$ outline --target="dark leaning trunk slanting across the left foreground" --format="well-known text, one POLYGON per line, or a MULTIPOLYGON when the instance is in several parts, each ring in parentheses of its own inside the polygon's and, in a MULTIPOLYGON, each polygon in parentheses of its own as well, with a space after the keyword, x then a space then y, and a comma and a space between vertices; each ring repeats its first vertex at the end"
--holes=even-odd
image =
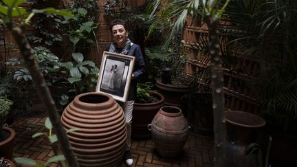
POLYGON ((12 25, 8 27, 10 28, 10 30, 12 30, 14 41, 17 42, 17 45, 19 46, 19 49, 21 51, 21 55, 25 60, 25 64, 27 65, 30 74, 32 75, 32 80, 34 82, 34 85, 36 86, 37 92, 39 93, 39 97, 45 104, 45 109, 52 122, 52 126, 58 137, 58 142, 60 142, 61 149, 67 160, 68 166, 78 167, 78 162, 76 161, 76 157, 74 156, 72 147, 66 136, 65 129, 63 129, 60 120, 60 115, 58 115, 58 111, 56 109, 54 100, 52 99, 52 96, 50 94, 50 90, 45 84, 43 74, 39 70, 39 65, 36 63, 36 60, 34 59, 34 54, 32 52, 30 44, 25 38, 25 34, 23 33, 20 27, 13 27, 12 25))

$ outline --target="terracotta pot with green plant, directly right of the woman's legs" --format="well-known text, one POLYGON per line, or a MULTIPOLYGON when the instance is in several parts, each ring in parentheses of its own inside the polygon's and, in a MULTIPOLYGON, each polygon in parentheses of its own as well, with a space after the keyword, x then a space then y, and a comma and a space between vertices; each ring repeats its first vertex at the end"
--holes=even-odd
POLYGON ((132 133, 131 137, 144 140, 151 137, 147 124, 150 124, 155 114, 164 105, 164 96, 153 91, 152 82, 137 84, 137 96, 133 106, 132 133))

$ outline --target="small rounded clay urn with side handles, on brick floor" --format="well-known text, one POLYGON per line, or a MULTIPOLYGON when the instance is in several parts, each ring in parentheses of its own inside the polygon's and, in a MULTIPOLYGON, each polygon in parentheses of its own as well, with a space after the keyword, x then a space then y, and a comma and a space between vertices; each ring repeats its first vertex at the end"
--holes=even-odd
POLYGON ((165 106, 159 109, 151 124, 148 124, 148 129, 162 157, 175 157, 188 139, 188 123, 178 107, 165 106))

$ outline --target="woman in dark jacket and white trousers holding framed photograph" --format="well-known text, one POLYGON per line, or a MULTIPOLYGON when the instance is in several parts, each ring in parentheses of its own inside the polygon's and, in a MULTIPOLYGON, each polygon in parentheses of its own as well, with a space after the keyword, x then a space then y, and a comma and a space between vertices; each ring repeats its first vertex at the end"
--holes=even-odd
POLYGON ((126 102, 118 102, 124 110, 126 127, 127 127, 127 140, 126 151, 124 153, 124 162, 128 166, 133 164, 132 155, 130 152, 131 146, 131 123, 133 104, 136 98, 137 80, 142 80, 146 73, 146 65, 142 56, 141 48, 139 45, 132 43, 128 38, 128 31, 126 23, 122 19, 114 19, 110 25, 111 34, 113 36, 113 43, 111 43, 106 51, 118 54, 124 54, 135 57, 135 65, 131 77, 131 85, 126 102))

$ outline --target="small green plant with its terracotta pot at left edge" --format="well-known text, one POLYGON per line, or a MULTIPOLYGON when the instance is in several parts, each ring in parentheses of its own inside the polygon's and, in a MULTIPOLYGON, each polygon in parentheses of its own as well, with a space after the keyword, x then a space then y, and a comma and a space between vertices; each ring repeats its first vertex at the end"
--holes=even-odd
POLYGON ((4 126, 12 101, 0 96, 0 104, 0 157, 12 159, 15 132, 10 127, 4 126))

